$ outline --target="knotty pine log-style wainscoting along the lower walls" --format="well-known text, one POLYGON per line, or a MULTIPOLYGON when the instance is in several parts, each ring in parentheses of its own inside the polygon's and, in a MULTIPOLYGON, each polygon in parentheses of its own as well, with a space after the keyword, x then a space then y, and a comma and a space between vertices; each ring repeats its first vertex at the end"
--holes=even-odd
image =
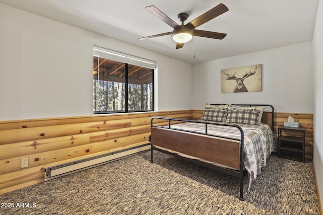
MULTIPOLYGON (((0 121, 0 194, 43 182, 45 167, 147 144, 152 116, 200 119, 202 113, 181 110, 0 121), (21 168, 21 158, 28 158, 28 167, 21 168)), ((313 114, 275 113, 276 135, 288 116, 306 128, 305 157, 312 158, 313 114)))

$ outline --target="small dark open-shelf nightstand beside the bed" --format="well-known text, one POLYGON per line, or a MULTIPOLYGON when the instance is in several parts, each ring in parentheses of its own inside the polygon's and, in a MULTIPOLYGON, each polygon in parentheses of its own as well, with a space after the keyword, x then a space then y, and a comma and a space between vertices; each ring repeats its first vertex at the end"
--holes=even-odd
POLYGON ((305 162, 305 128, 278 127, 278 157, 305 162))

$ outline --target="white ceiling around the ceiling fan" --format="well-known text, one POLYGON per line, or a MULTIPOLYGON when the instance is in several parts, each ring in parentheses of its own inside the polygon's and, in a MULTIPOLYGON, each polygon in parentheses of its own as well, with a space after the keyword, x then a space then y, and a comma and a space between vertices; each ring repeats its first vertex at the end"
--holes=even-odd
MULTIPOLYGON (((42 17, 106 35, 189 63, 220 59, 306 41, 313 37, 319 0, 0 0, 42 17), (175 49, 170 35, 138 40, 173 29, 150 14, 154 5, 181 24, 223 3, 229 11, 196 29, 227 33, 223 40, 194 37, 175 49)), ((109 48, 109 47, 106 47, 109 48)))

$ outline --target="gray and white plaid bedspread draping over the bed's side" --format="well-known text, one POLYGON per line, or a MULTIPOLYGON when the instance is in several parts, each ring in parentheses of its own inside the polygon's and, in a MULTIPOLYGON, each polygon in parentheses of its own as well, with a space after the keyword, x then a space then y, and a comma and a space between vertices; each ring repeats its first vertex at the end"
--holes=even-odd
MULTIPOLYGON (((261 167, 266 166, 266 160, 274 152, 274 134, 267 124, 249 125, 237 124, 244 132, 244 167, 248 171, 249 186, 252 180, 261 172, 261 167)), ((204 132, 204 123, 185 122, 171 125, 172 128, 204 132)), ((236 127, 208 124, 209 134, 228 136, 240 139, 240 131, 236 127)), ((276 142, 276 139, 275 139, 276 142)))

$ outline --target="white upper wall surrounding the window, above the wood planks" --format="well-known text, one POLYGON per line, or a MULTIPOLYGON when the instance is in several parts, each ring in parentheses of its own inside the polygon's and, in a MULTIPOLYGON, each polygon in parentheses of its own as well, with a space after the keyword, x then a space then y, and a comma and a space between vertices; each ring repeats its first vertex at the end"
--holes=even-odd
POLYGON ((157 61, 155 110, 191 109, 191 64, 0 4, 0 120, 92 115, 93 44, 157 61))

